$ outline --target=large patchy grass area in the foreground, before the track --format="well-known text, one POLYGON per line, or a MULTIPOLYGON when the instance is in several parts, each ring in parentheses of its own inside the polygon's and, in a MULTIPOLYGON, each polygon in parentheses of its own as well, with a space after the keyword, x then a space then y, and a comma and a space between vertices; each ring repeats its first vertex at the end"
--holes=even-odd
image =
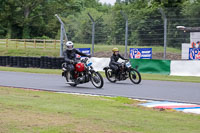
POLYGON ((138 106, 128 98, 0 87, 6 133, 199 133, 200 115, 138 106))

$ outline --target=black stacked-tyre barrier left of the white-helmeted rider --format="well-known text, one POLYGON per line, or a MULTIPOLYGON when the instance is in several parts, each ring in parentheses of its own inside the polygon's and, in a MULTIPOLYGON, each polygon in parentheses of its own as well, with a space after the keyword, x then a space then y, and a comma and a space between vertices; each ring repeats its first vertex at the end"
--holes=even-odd
POLYGON ((64 58, 62 57, 0 56, 0 66, 9 67, 61 69, 63 62, 64 58))

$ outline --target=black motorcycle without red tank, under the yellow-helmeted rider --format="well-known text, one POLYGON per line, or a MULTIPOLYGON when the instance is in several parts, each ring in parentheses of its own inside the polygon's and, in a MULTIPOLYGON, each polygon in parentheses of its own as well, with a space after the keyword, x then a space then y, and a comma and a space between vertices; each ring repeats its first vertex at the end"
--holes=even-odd
POLYGON ((112 83, 126 80, 127 78, 130 78, 134 84, 139 84, 141 82, 142 79, 140 73, 136 69, 131 68, 131 63, 129 60, 122 62, 119 69, 119 75, 115 75, 110 67, 105 67, 103 70, 105 70, 106 78, 112 83))

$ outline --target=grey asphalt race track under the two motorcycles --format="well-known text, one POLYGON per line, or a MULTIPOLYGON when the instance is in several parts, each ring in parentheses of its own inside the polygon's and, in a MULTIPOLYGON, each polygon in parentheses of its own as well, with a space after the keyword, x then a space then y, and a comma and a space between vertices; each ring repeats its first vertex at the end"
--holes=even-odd
POLYGON ((142 80, 135 85, 130 80, 110 83, 104 78, 103 88, 97 89, 91 82, 77 87, 65 82, 60 75, 0 71, 0 86, 200 104, 200 83, 142 80))

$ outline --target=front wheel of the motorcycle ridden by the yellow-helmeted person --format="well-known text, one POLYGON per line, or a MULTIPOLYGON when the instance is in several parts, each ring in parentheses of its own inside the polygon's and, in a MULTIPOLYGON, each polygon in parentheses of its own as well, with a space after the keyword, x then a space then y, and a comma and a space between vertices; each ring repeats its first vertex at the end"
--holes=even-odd
POLYGON ((140 73, 136 69, 129 71, 129 78, 134 84, 139 84, 142 80, 140 73))

